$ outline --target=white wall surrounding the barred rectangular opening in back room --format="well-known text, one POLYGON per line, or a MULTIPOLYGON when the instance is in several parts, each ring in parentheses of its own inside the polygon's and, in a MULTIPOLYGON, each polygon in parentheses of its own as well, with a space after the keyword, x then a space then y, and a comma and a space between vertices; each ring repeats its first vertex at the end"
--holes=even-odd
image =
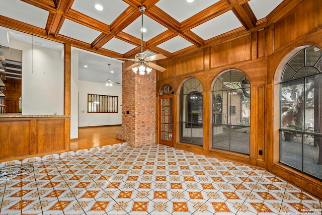
POLYGON ((78 126, 100 126, 122 124, 122 86, 78 81, 78 126), (87 94, 118 96, 118 113, 88 113, 87 94))

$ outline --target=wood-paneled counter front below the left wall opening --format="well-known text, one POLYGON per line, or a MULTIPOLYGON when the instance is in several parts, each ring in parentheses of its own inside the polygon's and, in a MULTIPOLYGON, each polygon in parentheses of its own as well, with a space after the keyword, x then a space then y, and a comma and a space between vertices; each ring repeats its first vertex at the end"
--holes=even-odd
POLYGON ((0 114, 0 162, 69 151, 70 116, 0 114))

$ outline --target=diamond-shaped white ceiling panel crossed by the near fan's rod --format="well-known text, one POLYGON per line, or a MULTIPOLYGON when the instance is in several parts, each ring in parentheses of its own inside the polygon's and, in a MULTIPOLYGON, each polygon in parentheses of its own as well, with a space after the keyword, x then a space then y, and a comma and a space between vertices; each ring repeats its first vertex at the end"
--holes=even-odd
MULTIPOLYGON (((141 39, 141 26, 142 26, 142 18, 141 16, 137 18, 134 22, 128 25, 123 32, 130 34, 138 39, 141 39)), ((153 37, 165 32, 167 30, 166 27, 160 25, 155 22, 151 18, 145 16, 143 14, 143 28, 146 29, 146 32, 143 33, 143 41, 148 41, 153 37)))

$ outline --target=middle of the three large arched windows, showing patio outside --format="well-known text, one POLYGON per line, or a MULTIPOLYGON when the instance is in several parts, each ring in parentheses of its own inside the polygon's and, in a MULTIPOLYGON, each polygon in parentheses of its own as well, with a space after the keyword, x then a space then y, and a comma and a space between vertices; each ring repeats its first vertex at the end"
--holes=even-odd
POLYGON ((250 154, 250 82, 229 70, 212 90, 212 148, 250 154))

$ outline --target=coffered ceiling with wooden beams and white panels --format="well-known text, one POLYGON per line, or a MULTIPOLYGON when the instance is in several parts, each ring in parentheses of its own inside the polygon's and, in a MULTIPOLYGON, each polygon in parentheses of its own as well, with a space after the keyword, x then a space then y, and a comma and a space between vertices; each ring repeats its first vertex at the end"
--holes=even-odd
MULTIPOLYGON (((172 57, 220 35, 249 31, 287 11, 295 0, 2 0, 0 25, 108 57, 143 51, 172 57), (102 11, 95 5, 103 7, 102 11)), ((297 1, 298 2, 298 1, 297 1)))

